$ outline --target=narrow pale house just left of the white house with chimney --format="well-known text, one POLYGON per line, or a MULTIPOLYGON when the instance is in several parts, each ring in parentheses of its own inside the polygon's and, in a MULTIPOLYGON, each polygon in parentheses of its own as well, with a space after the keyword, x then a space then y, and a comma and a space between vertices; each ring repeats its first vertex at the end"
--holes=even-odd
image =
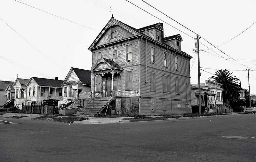
POLYGON ((22 104, 26 104, 26 93, 27 93, 27 83, 28 79, 17 78, 12 84, 13 89, 15 90, 15 100, 14 105, 17 108, 21 108, 22 104))

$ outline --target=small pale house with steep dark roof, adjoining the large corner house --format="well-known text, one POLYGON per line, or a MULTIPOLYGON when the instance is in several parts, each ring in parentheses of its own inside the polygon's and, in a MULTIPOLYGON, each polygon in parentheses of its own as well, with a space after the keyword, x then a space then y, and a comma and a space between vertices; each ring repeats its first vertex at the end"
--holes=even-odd
MULTIPOLYGON (((84 99, 91 95, 91 71, 71 67, 63 81, 63 100, 58 102, 59 109, 73 98, 84 99)), ((77 100, 78 101, 78 100, 77 100)))

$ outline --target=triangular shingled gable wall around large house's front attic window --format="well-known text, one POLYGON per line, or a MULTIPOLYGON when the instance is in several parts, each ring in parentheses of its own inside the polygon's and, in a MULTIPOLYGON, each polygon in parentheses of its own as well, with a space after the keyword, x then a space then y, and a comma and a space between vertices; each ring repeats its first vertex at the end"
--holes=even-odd
POLYGON ((101 36, 101 38, 98 41, 98 43, 96 44, 96 46, 101 46, 101 45, 107 44, 109 42, 114 42, 114 41, 121 40, 124 38, 129 38, 132 36, 133 36, 133 34, 128 32, 126 29, 124 29, 120 26, 116 26, 116 37, 111 38, 111 27, 109 27, 105 31, 105 33, 101 36))

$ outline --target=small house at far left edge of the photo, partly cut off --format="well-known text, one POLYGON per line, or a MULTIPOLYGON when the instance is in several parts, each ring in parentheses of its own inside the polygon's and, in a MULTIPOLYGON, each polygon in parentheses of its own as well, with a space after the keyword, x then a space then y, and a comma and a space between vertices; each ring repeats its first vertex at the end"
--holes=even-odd
POLYGON ((13 83, 13 81, 0 81, 0 106, 14 98, 12 87, 13 83), (8 91, 6 91, 7 89, 8 91))

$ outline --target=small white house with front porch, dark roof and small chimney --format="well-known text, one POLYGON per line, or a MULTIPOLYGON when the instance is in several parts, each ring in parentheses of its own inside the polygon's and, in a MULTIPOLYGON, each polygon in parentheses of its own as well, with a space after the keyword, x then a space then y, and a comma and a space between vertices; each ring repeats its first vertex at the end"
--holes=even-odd
MULTIPOLYGON (((63 81, 55 79, 31 77, 27 82, 26 104, 41 105, 43 101, 52 102, 62 100, 63 81)), ((57 104, 56 104, 57 105, 57 104)))

